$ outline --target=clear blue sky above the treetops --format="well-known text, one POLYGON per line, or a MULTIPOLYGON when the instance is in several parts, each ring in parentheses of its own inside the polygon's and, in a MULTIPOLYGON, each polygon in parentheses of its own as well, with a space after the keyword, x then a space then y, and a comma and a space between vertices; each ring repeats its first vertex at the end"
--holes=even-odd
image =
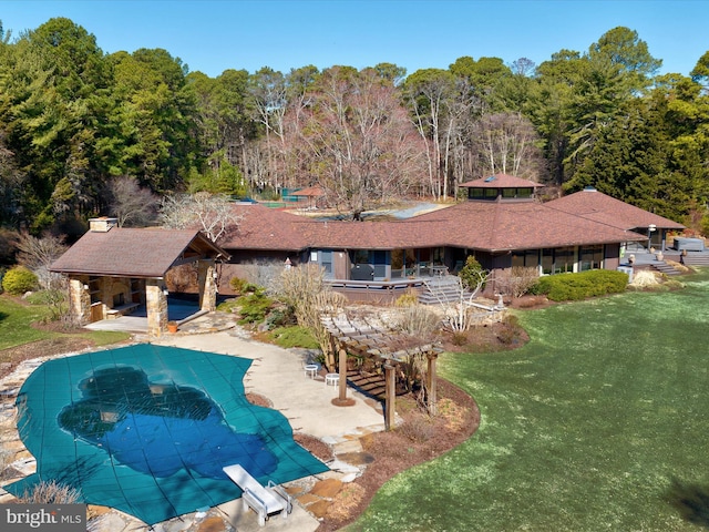
POLYGON ((661 72, 689 74, 709 50, 708 0, 0 0, 12 37, 66 17, 107 53, 163 48, 191 71, 281 72, 380 62, 446 69, 458 58, 585 52, 606 31, 636 30, 661 72))

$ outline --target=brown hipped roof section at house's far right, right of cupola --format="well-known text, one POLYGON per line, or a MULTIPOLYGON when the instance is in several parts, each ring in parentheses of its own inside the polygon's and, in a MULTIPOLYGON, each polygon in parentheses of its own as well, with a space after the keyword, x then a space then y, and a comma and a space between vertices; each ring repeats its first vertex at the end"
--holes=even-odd
POLYGON ((586 188, 568 196, 562 196, 544 205, 621 229, 649 227, 651 224, 664 229, 681 231, 685 228, 682 224, 610 197, 595 188, 586 188))

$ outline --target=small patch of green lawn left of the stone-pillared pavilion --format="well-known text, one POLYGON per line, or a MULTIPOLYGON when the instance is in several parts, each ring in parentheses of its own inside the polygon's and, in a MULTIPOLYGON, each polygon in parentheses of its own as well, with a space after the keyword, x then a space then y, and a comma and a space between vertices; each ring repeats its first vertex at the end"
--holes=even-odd
POLYGON ((86 331, 78 335, 35 329, 31 324, 49 316, 44 305, 24 305, 9 296, 0 296, 0 350, 50 338, 79 336, 91 339, 94 345, 114 344, 130 338, 126 332, 86 331))

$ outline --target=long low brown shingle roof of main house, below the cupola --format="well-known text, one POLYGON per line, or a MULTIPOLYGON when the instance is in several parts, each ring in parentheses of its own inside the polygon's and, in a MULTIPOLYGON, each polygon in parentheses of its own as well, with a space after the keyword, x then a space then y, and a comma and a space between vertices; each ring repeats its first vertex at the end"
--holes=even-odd
POLYGON ((397 249, 456 246, 532 249, 644 241, 617 226, 535 202, 465 202, 397 222, 312 221, 263 205, 239 205, 238 234, 222 244, 238 249, 397 249))

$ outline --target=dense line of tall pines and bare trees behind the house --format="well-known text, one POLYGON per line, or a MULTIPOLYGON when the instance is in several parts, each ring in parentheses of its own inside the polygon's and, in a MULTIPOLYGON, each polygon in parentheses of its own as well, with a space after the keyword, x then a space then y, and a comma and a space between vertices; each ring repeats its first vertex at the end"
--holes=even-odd
POLYGON ((445 200, 496 172, 548 194, 593 185, 699 228, 709 196, 709 52, 690 76, 627 28, 540 65, 461 57, 407 75, 312 65, 212 79, 168 51, 105 54, 51 19, 0 29, 0 226, 83 232, 174 192, 277 197, 318 184, 357 217, 445 200))

